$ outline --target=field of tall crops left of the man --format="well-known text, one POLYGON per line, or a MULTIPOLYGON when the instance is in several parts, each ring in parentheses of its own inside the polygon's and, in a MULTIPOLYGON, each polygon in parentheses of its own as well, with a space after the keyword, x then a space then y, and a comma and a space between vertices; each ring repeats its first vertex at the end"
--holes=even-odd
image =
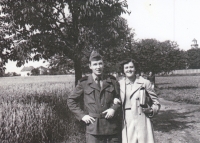
POLYGON ((0 78, 0 142, 81 142, 67 107, 73 85, 73 76, 0 78))

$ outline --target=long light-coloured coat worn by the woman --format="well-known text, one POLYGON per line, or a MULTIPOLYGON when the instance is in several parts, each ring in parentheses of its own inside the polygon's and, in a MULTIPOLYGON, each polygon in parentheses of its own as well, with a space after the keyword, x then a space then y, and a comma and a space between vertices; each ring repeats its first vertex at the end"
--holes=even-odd
MULTIPOLYGON (((122 108, 124 107, 126 79, 119 81, 122 108)), ((160 109, 155 91, 151 87, 150 81, 140 77, 137 78, 130 93, 131 110, 123 109, 122 143, 154 143, 153 126, 150 118, 154 117, 160 109), (146 103, 153 109, 153 114, 144 114, 140 107, 141 92, 146 90, 146 103), (151 102, 150 102, 151 101, 151 102), (126 114, 125 114, 126 113, 126 114)))

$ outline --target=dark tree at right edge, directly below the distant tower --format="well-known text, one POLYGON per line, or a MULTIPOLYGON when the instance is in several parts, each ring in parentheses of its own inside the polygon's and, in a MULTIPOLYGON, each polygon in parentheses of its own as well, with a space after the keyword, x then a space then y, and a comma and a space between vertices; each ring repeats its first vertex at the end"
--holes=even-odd
POLYGON ((187 50, 188 68, 200 69, 200 48, 193 48, 187 50))

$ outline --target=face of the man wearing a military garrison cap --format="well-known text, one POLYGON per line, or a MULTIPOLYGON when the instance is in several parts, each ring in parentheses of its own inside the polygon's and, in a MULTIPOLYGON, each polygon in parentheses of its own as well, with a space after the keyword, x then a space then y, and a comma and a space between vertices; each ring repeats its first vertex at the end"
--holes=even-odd
POLYGON ((92 73, 94 73, 95 75, 97 76, 102 75, 104 67, 102 60, 91 61, 89 67, 92 70, 92 73))

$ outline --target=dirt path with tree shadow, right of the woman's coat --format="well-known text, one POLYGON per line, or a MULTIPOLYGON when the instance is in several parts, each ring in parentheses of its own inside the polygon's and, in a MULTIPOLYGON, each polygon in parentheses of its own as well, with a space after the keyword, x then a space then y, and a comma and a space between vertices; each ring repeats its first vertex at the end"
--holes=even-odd
POLYGON ((160 99, 161 110, 153 119, 157 143, 200 143, 200 105, 160 99))

